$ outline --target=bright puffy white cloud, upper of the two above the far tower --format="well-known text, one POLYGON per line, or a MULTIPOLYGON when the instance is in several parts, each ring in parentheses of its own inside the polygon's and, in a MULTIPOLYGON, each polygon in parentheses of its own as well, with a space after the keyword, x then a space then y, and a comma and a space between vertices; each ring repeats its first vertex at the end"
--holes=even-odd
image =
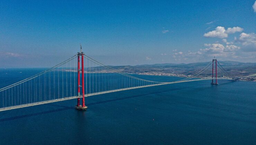
POLYGON ((233 27, 228 28, 227 30, 224 27, 218 26, 215 28, 215 30, 204 33, 204 37, 218 37, 218 38, 227 38, 228 34, 235 33, 235 32, 241 32, 243 31, 243 28, 240 27, 233 27))

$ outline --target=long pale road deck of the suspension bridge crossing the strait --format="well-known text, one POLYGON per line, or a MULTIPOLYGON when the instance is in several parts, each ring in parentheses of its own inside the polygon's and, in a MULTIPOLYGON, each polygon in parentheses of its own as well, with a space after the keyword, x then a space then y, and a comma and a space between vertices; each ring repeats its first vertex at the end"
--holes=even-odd
MULTIPOLYGON (((172 81, 172 82, 159 83, 159 84, 154 84, 154 85, 145 85, 145 86, 138 86, 138 87, 130 87, 130 88, 123 88, 123 89, 102 91, 102 92, 98 92, 98 93, 86 94, 85 97, 100 95, 100 94, 106 94, 106 93, 112 93, 112 92, 122 91, 122 90, 130 90, 130 89, 137 89, 137 88, 145 88, 145 87, 152 87, 152 86, 159 86, 159 85, 183 83, 183 82, 189 82, 189 81, 210 80, 210 79, 212 79, 212 78, 172 81)), ((218 79, 230 79, 230 78, 218 78, 218 79)), ((23 107, 29 107, 29 106, 35 106, 35 105, 42 105, 42 104, 53 103, 53 102, 64 101, 64 100, 70 100, 70 99, 76 99, 76 98, 79 98, 79 97, 81 98, 81 96, 72 96, 72 97, 64 97, 64 98, 59 98, 59 99, 46 100, 46 101, 40 101, 40 102, 35 102, 35 103, 23 104, 23 105, 4 107, 4 108, 0 108, 0 111, 23 108, 23 107)))

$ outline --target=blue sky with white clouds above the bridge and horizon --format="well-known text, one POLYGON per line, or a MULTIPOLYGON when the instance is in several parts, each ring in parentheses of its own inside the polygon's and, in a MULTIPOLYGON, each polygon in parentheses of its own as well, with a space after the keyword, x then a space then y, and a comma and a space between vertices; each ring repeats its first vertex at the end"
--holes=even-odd
POLYGON ((255 0, 0 1, 0 68, 256 62, 255 0))

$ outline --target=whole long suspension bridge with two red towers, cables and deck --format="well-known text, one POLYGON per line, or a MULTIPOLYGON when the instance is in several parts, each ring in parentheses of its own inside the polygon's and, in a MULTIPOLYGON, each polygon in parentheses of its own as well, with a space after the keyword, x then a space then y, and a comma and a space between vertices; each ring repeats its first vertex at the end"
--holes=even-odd
POLYGON ((76 109, 86 110, 85 97, 89 96, 199 80, 211 80, 212 85, 217 85, 218 79, 239 80, 238 77, 231 77, 217 59, 181 80, 145 80, 104 65, 85 55, 81 49, 52 68, 1 88, 0 111, 69 99, 77 99, 76 109))

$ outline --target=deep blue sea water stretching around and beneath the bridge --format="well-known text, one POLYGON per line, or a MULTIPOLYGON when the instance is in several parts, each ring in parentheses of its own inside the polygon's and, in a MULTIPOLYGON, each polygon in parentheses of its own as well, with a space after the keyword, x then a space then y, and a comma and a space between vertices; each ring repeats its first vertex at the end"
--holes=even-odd
MULTIPOLYGON (((39 71, 1 69, 0 86, 39 71)), ((255 88, 202 80, 87 97, 86 111, 74 109, 75 99, 8 110, 0 112, 0 144, 255 144, 255 88)))

